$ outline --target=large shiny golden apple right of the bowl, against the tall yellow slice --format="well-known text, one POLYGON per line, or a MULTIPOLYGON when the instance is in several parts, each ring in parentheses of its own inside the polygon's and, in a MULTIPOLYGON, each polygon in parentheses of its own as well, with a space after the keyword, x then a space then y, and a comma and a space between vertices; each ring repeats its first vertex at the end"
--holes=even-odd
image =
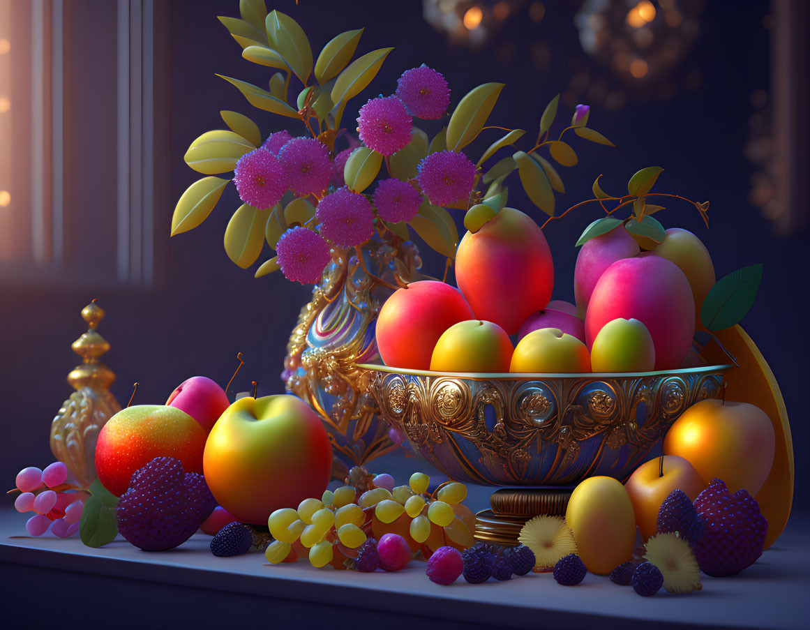
POLYGON ((732 494, 755 496, 774 464, 776 437, 770 418, 748 402, 701 400, 672 424, 663 452, 678 455, 709 485, 723 479, 732 494))

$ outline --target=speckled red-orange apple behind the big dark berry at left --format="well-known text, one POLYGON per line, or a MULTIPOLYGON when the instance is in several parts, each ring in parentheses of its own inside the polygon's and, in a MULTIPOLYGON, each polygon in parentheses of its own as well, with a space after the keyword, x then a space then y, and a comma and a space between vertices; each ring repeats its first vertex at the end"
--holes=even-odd
POLYGON ((206 432, 176 407, 134 405, 104 424, 96 442, 96 473, 101 484, 122 496, 132 475, 154 458, 179 459, 185 472, 203 472, 206 432))

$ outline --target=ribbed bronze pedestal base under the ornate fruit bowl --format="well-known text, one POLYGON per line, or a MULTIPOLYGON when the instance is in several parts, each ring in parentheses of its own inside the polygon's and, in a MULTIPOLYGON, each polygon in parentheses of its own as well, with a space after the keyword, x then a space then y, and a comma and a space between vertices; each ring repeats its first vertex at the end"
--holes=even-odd
POLYGON ((485 509, 475 514, 475 540, 514 547, 518 534, 531 518, 565 517, 573 486, 509 487, 492 493, 485 509))

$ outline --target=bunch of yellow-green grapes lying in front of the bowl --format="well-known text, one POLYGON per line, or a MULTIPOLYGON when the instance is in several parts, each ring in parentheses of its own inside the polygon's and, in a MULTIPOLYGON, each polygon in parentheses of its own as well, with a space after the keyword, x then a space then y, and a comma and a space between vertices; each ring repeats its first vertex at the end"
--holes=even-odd
MULTIPOLYGON (((390 475, 378 475, 382 477, 391 479, 390 475)), ((425 543, 432 532, 443 530, 456 546, 469 547, 474 517, 462 504, 467 497, 467 487, 451 482, 428 496, 425 492, 429 483, 428 475, 414 473, 407 486, 389 490, 374 483, 363 483, 362 487, 369 489, 360 492, 346 485, 335 492, 327 490, 321 499, 305 499, 298 509, 277 509, 267 520, 275 540, 266 548, 266 559, 271 564, 283 562, 296 543, 309 549, 309 562, 313 567, 333 563, 336 553, 351 557, 375 532, 375 518, 386 530, 406 539, 410 537, 418 544, 425 543), (408 521, 407 531, 403 531, 403 521, 408 521)), ((386 533, 378 530, 377 535, 386 533)))

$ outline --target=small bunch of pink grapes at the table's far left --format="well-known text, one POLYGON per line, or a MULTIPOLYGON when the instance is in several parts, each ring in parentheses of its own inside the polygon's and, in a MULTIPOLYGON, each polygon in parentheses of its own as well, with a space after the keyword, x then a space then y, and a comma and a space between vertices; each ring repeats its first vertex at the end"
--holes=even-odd
POLYGON ((49 529, 59 538, 67 538, 79 530, 84 502, 82 492, 67 482, 67 466, 53 462, 45 470, 36 466, 23 468, 17 474, 20 491, 14 507, 18 512, 34 512, 25 529, 32 536, 41 536, 49 529))

